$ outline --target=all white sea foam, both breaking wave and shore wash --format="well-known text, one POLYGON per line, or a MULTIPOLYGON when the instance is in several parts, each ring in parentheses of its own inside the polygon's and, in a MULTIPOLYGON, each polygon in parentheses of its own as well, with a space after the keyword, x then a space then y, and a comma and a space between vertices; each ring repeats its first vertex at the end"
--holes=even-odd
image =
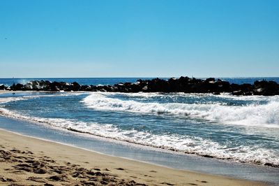
MULTIPOLYGON (((79 95, 80 93, 78 93, 79 95)), ((0 99, 3 103, 9 101, 20 101, 40 96, 68 96, 73 94, 50 94, 50 95, 32 95, 13 98, 0 99)), ((204 96, 201 94, 158 94, 158 93, 137 93, 123 94, 130 96, 130 101, 116 99, 122 93, 101 93, 96 92, 89 94, 82 100, 84 105, 96 110, 116 110, 146 114, 166 114, 178 117, 202 118, 213 122, 223 124, 242 124, 261 127, 279 127, 279 99, 278 96, 259 97, 264 103, 252 103, 244 106, 228 106, 218 102, 207 102, 207 104, 197 103, 156 103, 156 102, 140 102, 143 100, 153 99, 160 96, 204 96)), ((162 97, 161 97, 162 96, 162 97)), ((229 95, 228 99, 231 98, 229 95)), ((236 99, 237 96, 234 96, 236 99)), ((239 100, 246 99, 239 96, 239 100)), ((250 98, 251 99, 251 98, 250 98)), ((78 120, 69 120, 62 118, 45 118, 33 117, 19 112, 10 111, 6 108, 0 108, 0 114, 6 117, 18 118, 21 120, 29 120, 50 126, 60 127, 63 129, 72 129, 84 133, 93 134, 104 138, 112 138, 118 141, 127 141, 129 143, 137 143, 140 145, 148 145, 155 148, 163 148, 167 150, 177 150, 179 152, 193 153, 197 155, 209 155, 222 159, 232 159, 239 162, 257 162, 257 163, 273 163, 279 164, 278 150, 262 148, 259 145, 240 145, 229 148, 223 143, 212 141, 208 138, 198 136, 188 136, 179 134, 151 134, 148 131, 137 131, 135 129, 123 130, 115 127, 113 124, 99 124, 96 122, 81 122, 78 120)))

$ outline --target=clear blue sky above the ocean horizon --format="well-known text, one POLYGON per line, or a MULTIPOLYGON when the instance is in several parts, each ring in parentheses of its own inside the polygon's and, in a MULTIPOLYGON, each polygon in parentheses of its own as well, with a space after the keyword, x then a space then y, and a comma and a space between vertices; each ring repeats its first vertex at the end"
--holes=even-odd
POLYGON ((0 0, 0 78, 279 76, 278 0, 0 0))

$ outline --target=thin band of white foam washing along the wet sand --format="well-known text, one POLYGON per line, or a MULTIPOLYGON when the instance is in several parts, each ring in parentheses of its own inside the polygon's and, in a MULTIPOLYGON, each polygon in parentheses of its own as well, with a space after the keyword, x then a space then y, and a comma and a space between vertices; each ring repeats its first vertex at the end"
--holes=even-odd
POLYGON ((6 108, 0 108, 0 114, 6 117, 40 122, 63 129, 71 129, 100 137, 112 138, 118 141, 149 145, 154 148, 176 150, 196 155, 209 155, 220 159, 232 159, 239 162, 256 162, 257 164, 269 162, 279 164, 278 152, 261 148, 257 145, 241 145, 236 148, 228 148, 226 145, 220 145, 215 141, 196 136, 178 134, 156 135, 147 131, 137 131, 135 129, 121 130, 114 127, 113 124, 98 124, 96 122, 86 123, 62 118, 31 117, 7 110, 6 108))

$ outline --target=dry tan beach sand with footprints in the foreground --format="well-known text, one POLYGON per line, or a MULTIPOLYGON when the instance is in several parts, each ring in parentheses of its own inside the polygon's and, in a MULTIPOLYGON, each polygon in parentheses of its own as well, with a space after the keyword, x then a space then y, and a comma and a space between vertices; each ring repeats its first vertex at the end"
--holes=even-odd
POLYGON ((111 157, 0 129, 0 185, 263 185, 111 157))

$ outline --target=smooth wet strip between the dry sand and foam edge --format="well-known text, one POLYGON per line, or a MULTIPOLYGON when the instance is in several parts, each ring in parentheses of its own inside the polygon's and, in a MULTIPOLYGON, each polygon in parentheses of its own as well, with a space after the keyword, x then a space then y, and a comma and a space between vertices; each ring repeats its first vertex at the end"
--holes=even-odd
POLYGON ((134 146, 118 141, 107 141, 107 139, 95 138, 91 135, 78 134, 72 131, 58 130, 38 123, 14 120, 0 117, 0 127, 9 131, 15 131, 27 136, 45 138, 50 141, 75 145, 97 152, 137 159, 143 162, 159 164, 174 169, 191 170, 203 173, 211 173, 233 178, 255 180, 269 185, 278 185, 279 171, 276 168, 227 162, 219 159, 209 159, 197 155, 183 155, 179 153, 162 152, 146 146, 134 146))

